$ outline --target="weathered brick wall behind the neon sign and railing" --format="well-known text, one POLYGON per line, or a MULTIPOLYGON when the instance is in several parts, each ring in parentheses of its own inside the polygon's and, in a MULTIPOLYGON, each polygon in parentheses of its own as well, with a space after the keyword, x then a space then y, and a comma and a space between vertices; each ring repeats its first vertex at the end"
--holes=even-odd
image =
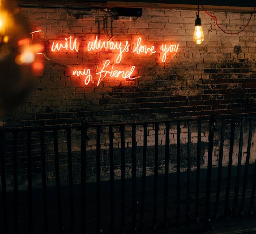
MULTIPOLYGON (((162 54, 158 52, 152 55, 124 53, 120 65, 115 63, 114 66, 117 69, 130 69, 132 65, 135 65, 133 75, 141 77, 130 81, 123 78, 106 77, 97 86, 96 71, 100 71, 106 59, 113 62, 118 54, 111 51, 88 52, 86 45, 98 35, 98 26, 100 26, 101 40, 111 37, 103 29, 103 17, 107 14, 109 16, 108 33, 111 33, 109 13, 97 11, 95 19, 99 20, 95 21, 72 18, 67 10, 21 8, 21 12, 28 20, 32 31, 42 30, 43 34, 35 35, 35 41, 44 43, 44 54, 52 62, 45 61, 44 74, 35 78, 36 85, 26 99, 12 112, 1 117, 0 126, 2 127, 74 125, 83 121, 88 123, 165 121, 209 116, 210 114, 255 115, 255 15, 252 16, 250 24, 242 33, 228 35, 217 28, 213 19, 201 12, 205 35, 202 45, 196 45, 192 41, 195 11, 143 9, 142 17, 136 21, 114 20, 113 41, 116 40, 124 44, 128 40, 130 48, 134 48, 140 36, 143 45, 155 45, 157 51, 160 49, 160 45, 165 43, 179 44, 179 48, 172 60, 169 61, 172 54, 168 55, 166 64, 160 61, 162 54), (76 37, 79 42, 78 53, 74 51, 51 52, 53 42, 63 41, 64 38, 71 35, 76 37), (242 52, 234 53, 234 46, 241 46, 242 52), (72 75, 73 68, 91 69, 94 83, 90 82, 85 85, 84 76, 78 78, 72 75)), ((217 16, 219 24, 229 32, 239 31, 240 25, 243 27, 250 17, 249 13, 217 12, 214 15, 217 16)), ((237 126, 239 128, 239 125, 237 126)), ((220 131, 220 128, 218 130, 220 131)), ((139 131, 142 131, 141 128, 137 130, 137 132, 139 131)), ((164 127, 162 131, 164 132, 164 127)), ((175 128, 171 131, 175 131, 175 128)), ((185 128, 183 131, 185 134, 185 128)), ((238 150, 239 129, 237 131, 235 149, 238 150)), ((205 162, 207 159, 207 132, 208 127, 206 126, 202 131, 202 141, 205 142, 202 148, 202 165, 204 166, 207 163, 205 162)), ((196 134, 196 129, 194 129, 194 133, 196 134)), ((129 133, 127 134, 129 135, 129 133)), ((248 132, 246 134, 248 136, 248 132)), ((216 141, 219 139, 219 135, 218 132, 216 141)), ((149 129, 149 136, 149 142, 151 142, 149 145, 153 147, 154 143, 151 139, 153 127, 149 129)), ((77 133, 72 133, 73 152, 77 156, 80 147, 78 139, 77 133)), ((192 140, 192 143, 196 145, 196 135, 192 135, 192 140)), ((142 139, 139 139, 137 146, 140 147, 142 142, 142 139)), ((185 142, 184 136, 184 147, 185 142)), ((228 142, 226 139, 225 165, 228 162, 228 142)), ((102 142, 103 145, 105 143, 107 142, 102 142)), ((165 142, 161 140, 160 144, 164 147, 165 142)), ((170 144, 170 147, 173 148, 170 152, 175 155, 175 135, 173 135, 173 139, 170 139, 170 144)), ((35 145, 37 144, 35 143, 35 145)), ((127 140, 126 146, 127 150, 130 150, 129 140, 127 140)), ((95 141, 88 142, 87 147, 92 154, 95 153, 95 141)), ((116 148, 118 149, 118 147, 117 143, 116 148)), ((102 149, 107 151, 104 147, 102 149)), ((65 148, 62 151, 65 152, 65 148)), ((184 148, 184 157, 185 152, 184 148)), ((214 152, 214 165, 216 166, 218 147, 214 152)), ((245 153, 246 146, 243 149, 243 154, 245 153)), ((34 156, 36 155, 37 153, 34 153, 34 156)), ((65 155, 64 153, 64 159, 65 155)), ((235 153, 235 155, 237 154, 235 153)), ((90 158, 90 155, 88 157, 90 158)), ((91 172, 95 169, 94 160, 95 158, 93 159, 92 156, 92 165, 88 164, 91 172)), ((164 159, 159 160, 159 164, 162 165, 159 170, 163 172, 164 159)), ((253 161, 252 157, 251 162, 253 161)), ((236 160, 234 160, 235 162, 236 160)), ((151 166, 152 163, 153 158, 151 166)), ((63 165, 66 168, 65 162, 63 165)), ((149 168, 151 166, 149 164, 149 168)), ((22 168, 26 168, 26 166, 22 168)), ((35 168, 37 168, 36 165, 35 168)), ((102 168, 102 175, 107 178, 109 171, 104 161, 102 161, 102 168)), ((140 167, 138 166, 138 168, 140 167)), ((130 169, 127 170, 129 174, 130 169)), ((175 160, 170 160, 170 171, 174 170, 175 160)), ((152 170, 149 169, 149 174, 151 172, 152 170)), ((117 175, 118 173, 117 169, 117 175)), ((54 175, 52 176, 54 177, 54 175)), ((88 174, 87 177, 89 180, 93 180, 93 178, 90 179, 93 177, 93 173, 88 174)))

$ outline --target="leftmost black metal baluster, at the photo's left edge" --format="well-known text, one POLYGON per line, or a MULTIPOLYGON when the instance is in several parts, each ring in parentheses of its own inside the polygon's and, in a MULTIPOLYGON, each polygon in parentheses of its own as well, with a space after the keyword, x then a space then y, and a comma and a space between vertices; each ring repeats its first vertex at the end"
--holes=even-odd
POLYGON ((1 157, 1 183, 2 183, 2 207, 4 233, 8 233, 8 215, 6 203, 6 178, 5 178, 5 155, 4 155, 4 133, 0 132, 0 157, 1 157))

